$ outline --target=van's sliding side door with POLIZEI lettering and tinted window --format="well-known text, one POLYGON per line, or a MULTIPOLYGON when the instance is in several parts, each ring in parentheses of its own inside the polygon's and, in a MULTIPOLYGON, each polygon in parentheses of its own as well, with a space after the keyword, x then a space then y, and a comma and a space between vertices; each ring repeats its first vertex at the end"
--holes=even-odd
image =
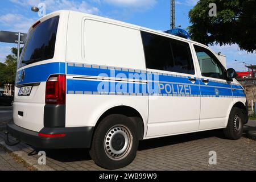
POLYGON ((200 91, 189 43, 142 31, 148 72, 147 137, 195 131, 200 91))

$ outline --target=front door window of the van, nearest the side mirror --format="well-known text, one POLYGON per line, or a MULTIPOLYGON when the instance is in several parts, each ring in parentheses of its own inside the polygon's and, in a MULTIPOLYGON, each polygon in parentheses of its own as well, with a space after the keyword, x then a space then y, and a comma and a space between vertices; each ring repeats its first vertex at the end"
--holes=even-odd
POLYGON ((199 61, 201 75, 205 77, 226 79, 225 68, 208 49, 194 45, 199 61))

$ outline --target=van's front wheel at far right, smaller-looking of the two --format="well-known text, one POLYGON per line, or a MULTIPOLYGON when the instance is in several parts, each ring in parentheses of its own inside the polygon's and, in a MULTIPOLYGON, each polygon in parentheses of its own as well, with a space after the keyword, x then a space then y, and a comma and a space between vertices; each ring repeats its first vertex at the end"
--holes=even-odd
POLYGON ((238 107, 233 107, 229 114, 228 126, 224 129, 224 135, 228 139, 237 140, 242 137, 245 115, 238 107))

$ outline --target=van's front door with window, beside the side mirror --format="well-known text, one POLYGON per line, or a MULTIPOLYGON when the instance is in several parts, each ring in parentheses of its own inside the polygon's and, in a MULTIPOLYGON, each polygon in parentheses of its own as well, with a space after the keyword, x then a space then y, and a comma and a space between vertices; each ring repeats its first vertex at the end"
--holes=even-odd
POLYGON ((210 49, 193 45, 200 67, 200 130, 224 127, 233 104, 232 82, 226 69, 210 49))

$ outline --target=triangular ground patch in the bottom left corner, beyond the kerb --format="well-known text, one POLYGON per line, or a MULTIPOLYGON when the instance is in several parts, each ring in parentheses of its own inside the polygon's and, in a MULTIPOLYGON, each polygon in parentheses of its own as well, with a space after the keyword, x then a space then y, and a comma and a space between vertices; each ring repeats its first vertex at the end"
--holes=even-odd
POLYGON ((27 171, 23 163, 16 162, 8 152, 0 146, 0 171, 27 171))

